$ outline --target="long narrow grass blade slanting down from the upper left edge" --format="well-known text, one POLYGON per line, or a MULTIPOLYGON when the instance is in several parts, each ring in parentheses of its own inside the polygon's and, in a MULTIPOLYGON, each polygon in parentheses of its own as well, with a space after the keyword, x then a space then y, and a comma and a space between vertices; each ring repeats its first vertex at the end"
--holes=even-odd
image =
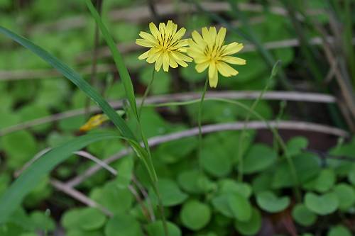
POLYGON ((53 57, 53 55, 50 55, 48 52, 43 50, 38 45, 33 44, 30 40, 23 38, 20 35, 16 35, 16 33, 13 33, 10 30, 3 28, 1 26, 0 26, 0 33, 6 35, 7 37, 11 38, 17 43, 23 45, 23 47, 26 47, 28 50, 31 50, 31 52, 35 53, 35 55, 38 55, 38 57, 45 60, 45 62, 50 64, 52 67, 58 69, 58 71, 64 77, 69 79, 79 89, 84 91, 84 93, 87 94, 87 96, 89 96, 102 108, 102 111, 104 111, 104 113, 109 117, 109 119, 114 123, 114 125, 116 125, 116 127, 119 128, 122 135, 127 137, 129 140, 136 140, 136 137, 134 137, 132 131, 126 125, 124 119, 122 119, 116 113, 116 111, 114 111, 114 108, 112 108, 109 105, 109 103, 107 103, 107 101, 104 100, 102 96, 92 88, 92 86, 90 86, 86 81, 84 81, 84 79, 82 79, 80 74, 75 72, 72 68, 68 67, 67 64, 64 64, 63 62, 58 60, 56 57, 53 57))

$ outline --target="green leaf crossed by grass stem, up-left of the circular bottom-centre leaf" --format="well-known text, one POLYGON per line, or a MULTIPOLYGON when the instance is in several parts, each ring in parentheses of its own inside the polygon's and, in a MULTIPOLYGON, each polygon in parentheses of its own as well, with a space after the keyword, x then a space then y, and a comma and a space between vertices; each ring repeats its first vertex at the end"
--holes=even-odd
MULTIPOLYGON (((178 184, 170 179, 159 179, 158 181, 158 191, 161 195, 161 200, 163 201, 163 206, 176 206, 183 203, 188 197, 186 193, 183 193, 178 184)), ((155 193, 151 191, 152 201, 157 202, 155 193)))

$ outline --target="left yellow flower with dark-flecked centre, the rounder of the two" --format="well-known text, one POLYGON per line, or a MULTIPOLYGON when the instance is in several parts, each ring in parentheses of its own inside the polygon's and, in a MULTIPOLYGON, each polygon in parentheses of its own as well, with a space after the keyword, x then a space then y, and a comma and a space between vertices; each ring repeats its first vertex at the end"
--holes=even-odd
POLYGON ((150 33, 141 31, 140 39, 136 40, 136 44, 143 47, 151 47, 150 50, 144 52, 138 57, 139 60, 146 59, 148 63, 155 62, 155 70, 158 72, 163 65, 165 72, 169 67, 176 68, 178 64, 187 67, 186 62, 192 62, 192 58, 187 57, 182 52, 186 52, 187 40, 182 40, 186 29, 180 28, 173 21, 159 24, 159 29, 153 22, 149 24, 150 33))

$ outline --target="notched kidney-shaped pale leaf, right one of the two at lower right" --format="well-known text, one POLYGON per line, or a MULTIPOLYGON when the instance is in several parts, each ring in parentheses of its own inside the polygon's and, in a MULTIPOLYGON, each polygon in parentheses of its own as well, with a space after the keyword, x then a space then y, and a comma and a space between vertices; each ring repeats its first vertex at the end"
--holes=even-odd
POLYGON ((329 215, 337 210, 339 200, 335 193, 317 195, 315 193, 308 192, 305 195, 305 206, 318 215, 329 215))

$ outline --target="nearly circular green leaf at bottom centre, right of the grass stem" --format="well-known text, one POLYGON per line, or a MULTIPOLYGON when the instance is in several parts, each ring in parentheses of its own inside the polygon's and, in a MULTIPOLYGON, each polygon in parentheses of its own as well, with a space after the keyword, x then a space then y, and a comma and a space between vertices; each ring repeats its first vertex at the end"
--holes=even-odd
POLYGON ((199 201, 188 201, 180 211, 182 225, 190 230, 201 230, 211 219, 209 206, 199 201))

